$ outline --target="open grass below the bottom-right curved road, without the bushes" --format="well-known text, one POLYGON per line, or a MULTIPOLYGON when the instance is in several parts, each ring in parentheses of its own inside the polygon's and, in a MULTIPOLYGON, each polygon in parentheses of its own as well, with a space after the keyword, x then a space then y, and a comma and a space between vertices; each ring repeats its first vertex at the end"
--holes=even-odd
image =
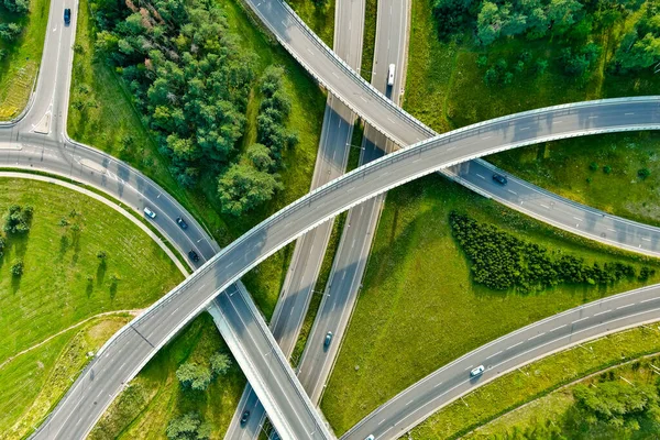
MULTIPOLYGON (((463 400, 457 400, 429 417, 411 431, 410 438, 430 440, 455 439, 464 436, 462 438, 470 440, 485 439, 494 433, 506 432, 512 426, 525 427, 526 422, 535 419, 552 419, 565 411, 572 399, 572 396, 563 391, 549 394, 552 391, 613 365, 658 351, 660 351, 658 323, 652 328, 651 326, 639 327, 584 343, 534 362, 520 371, 509 373, 477 388, 464 396, 463 400), (514 411, 526 403, 530 405, 514 411), (465 436, 491 420, 494 421, 465 436)), ((632 380, 631 367, 632 365, 628 365, 618 369, 617 376, 632 380)), ((650 370, 646 367, 637 371, 646 378, 658 377, 650 370)), ((653 438, 645 437, 644 431, 641 435, 634 438, 653 438)))

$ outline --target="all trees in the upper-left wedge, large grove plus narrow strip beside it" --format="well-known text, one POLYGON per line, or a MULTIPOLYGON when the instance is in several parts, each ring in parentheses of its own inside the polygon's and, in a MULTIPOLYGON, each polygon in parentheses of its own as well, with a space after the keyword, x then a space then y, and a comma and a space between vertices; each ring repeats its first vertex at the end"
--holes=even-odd
MULTIPOLYGON (((282 152, 298 140, 285 129, 292 101, 283 68, 267 68, 258 81, 258 145, 246 148, 248 160, 242 160, 238 146, 256 59, 241 50, 224 11, 205 0, 122 3, 95 3, 97 54, 131 90, 179 185, 193 187, 211 176, 218 180, 222 212, 235 216, 270 200, 283 189, 277 174, 282 152)), ((85 87, 77 86, 78 98, 72 101, 81 113, 96 106, 85 87)), ((125 143, 131 146, 130 139, 125 143)))

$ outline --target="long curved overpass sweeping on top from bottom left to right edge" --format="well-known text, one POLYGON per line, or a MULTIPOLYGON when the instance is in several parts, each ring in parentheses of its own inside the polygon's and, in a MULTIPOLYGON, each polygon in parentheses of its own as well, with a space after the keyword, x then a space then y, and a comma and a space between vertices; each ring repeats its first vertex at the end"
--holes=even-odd
POLYGON ((119 331, 35 438, 74 439, 87 432, 86 425, 94 425, 157 350, 218 294, 284 245, 352 206, 438 169, 498 151, 580 135, 658 129, 659 97, 559 106, 439 135, 332 180, 234 241, 119 331), (76 424, 68 422, 73 414, 76 424))

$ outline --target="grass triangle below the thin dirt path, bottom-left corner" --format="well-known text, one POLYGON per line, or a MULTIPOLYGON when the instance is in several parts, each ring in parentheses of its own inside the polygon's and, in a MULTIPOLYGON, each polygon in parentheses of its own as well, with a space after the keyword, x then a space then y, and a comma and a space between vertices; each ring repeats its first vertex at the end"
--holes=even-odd
POLYGON ((132 316, 92 319, 0 367, 0 439, 26 438, 96 352, 132 316))

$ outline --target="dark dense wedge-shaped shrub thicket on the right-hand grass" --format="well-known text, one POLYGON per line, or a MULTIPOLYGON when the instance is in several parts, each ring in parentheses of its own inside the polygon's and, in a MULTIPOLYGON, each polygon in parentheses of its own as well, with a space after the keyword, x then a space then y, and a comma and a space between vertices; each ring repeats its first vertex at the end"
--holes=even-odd
POLYGON ((624 278, 646 280, 654 275, 654 270, 648 267, 637 274, 634 266, 620 262, 590 265, 560 251, 550 253, 455 211, 449 220, 453 237, 472 263, 474 280, 492 289, 528 293, 562 283, 608 285, 624 278))

